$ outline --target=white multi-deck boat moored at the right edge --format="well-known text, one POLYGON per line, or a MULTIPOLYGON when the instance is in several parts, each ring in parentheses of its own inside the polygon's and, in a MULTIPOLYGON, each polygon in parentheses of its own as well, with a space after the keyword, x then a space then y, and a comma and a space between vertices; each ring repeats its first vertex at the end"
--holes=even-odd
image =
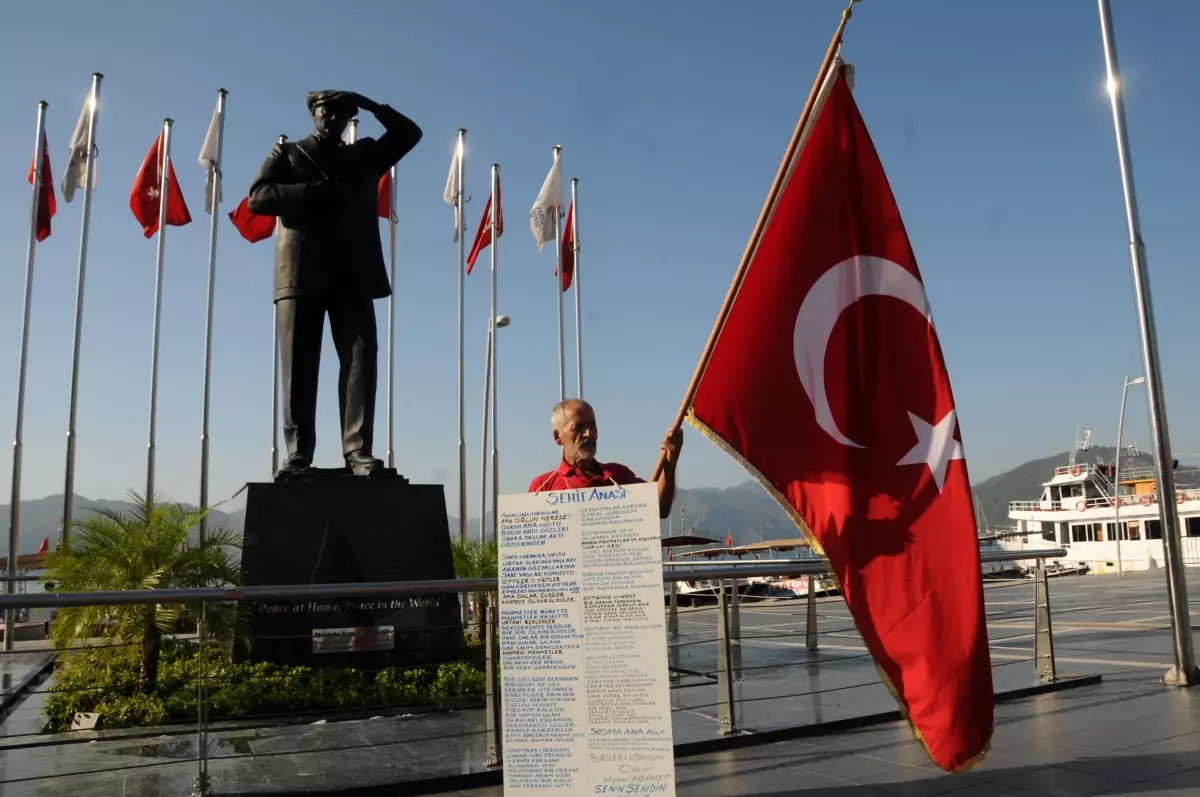
MULTIPOLYGON (((1112 462, 1088 462, 1090 449, 1091 430, 1085 430, 1067 463, 1042 485, 1040 497, 1008 504, 1015 528, 995 532, 996 543, 1008 551, 1067 549, 1054 575, 1162 568, 1162 507, 1152 459, 1130 447, 1121 454, 1117 473, 1112 462)), ((1196 475, 1194 469, 1176 471, 1177 489, 1169 498, 1180 515, 1183 563, 1192 567, 1200 565, 1196 475)))

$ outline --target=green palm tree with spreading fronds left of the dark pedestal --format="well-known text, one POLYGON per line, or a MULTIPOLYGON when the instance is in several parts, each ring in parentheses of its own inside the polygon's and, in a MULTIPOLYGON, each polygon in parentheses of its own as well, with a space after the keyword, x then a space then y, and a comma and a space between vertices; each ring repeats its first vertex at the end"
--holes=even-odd
MULTIPOLYGON (((146 501, 128 493, 128 511, 95 509, 78 520, 68 551, 46 557, 43 581, 58 592, 92 589, 168 589, 235 585, 240 576, 234 551, 241 537, 229 529, 210 529, 203 543, 192 543, 188 532, 208 509, 184 509, 162 499, 146 501)), ((163 636, 194 622, 198 606, 155 604, 145 606, 67 606, 58 611, 50 637, 55 647, 86 643, 97 627, 101 643, 142 646, 139 679, 152 689, 158 679, 158 654, 163 636)), ((224 607, 210 609, 206 625, 218 635, 230 634, 234 615, 224 607)))

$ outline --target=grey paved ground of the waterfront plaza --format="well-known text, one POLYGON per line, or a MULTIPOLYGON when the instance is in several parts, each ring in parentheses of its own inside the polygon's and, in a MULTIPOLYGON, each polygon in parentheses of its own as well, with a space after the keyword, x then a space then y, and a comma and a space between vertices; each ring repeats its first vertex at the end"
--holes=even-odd
MULTIPOLYGON (((1189 573, 1200 609, 1200 570, 1189 573)), ((997 690, 1033 683, 1031 582, 988 591, 997 690)), ((906 726, 757 747, 677 762, 683 795, 1200 795, 1200 691, 1157 679, 1170 665, 1162 571, 1051 581, 1060 672, 1105 673, 1088 687, 997 707, 992 753, 970 775, 929 766, 906 726), (1123 790, 1123 791, 1122 791, 1123 790), (1174 791, 1172 791, 1174 790, 1174 791)), ((821 605, 821 649, 804 648, 803 603, 744 605, 743 732, 894 708, 839 599, 821 605)), ((677 742, 716 735, 715 615, 682 616, 673 648, 686 671, 672 691, 677 742)), ((40 688, 44 689, 44 685, 40 688)), ((37 701, 0 726, 0 797, 186 795, 194 737, 36 736, 37 701), (28 735, 28 736, 26 736, 28 735)), ((214 792, 305 793, 479 771, 480 712, 229 729, 210 739, 214 792)), ((499 789, 474 792, 499 795, 499 789)))

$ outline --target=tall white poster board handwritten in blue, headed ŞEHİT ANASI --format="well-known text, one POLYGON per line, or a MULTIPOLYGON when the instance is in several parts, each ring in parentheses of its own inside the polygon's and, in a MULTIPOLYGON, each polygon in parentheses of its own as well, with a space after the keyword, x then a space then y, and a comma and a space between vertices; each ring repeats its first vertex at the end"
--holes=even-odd
POLYGON ((502 496, 504 795, 674 797, 653 484, 502 496))

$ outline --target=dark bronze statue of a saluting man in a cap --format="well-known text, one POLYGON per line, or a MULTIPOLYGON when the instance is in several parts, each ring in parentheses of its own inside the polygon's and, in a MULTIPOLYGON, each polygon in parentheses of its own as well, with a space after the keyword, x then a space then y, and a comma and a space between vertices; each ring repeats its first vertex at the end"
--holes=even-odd
POLYGON ((378 376, 374 299, 391 294, 379 241, 376 186, 421 140, 421 128, 389 106, 353 91, 307 97, 312 136, 276 144, 250 187, 250 210, 278 220, 275 239, 276 334, 283 371, 280 475, 312 467, 317 373, 325 314, 340 362, 342 454, 356 475, 382 471, 371 454, 378 376), (342 142, 359 112, 384 126, 378 140, 342 142))

